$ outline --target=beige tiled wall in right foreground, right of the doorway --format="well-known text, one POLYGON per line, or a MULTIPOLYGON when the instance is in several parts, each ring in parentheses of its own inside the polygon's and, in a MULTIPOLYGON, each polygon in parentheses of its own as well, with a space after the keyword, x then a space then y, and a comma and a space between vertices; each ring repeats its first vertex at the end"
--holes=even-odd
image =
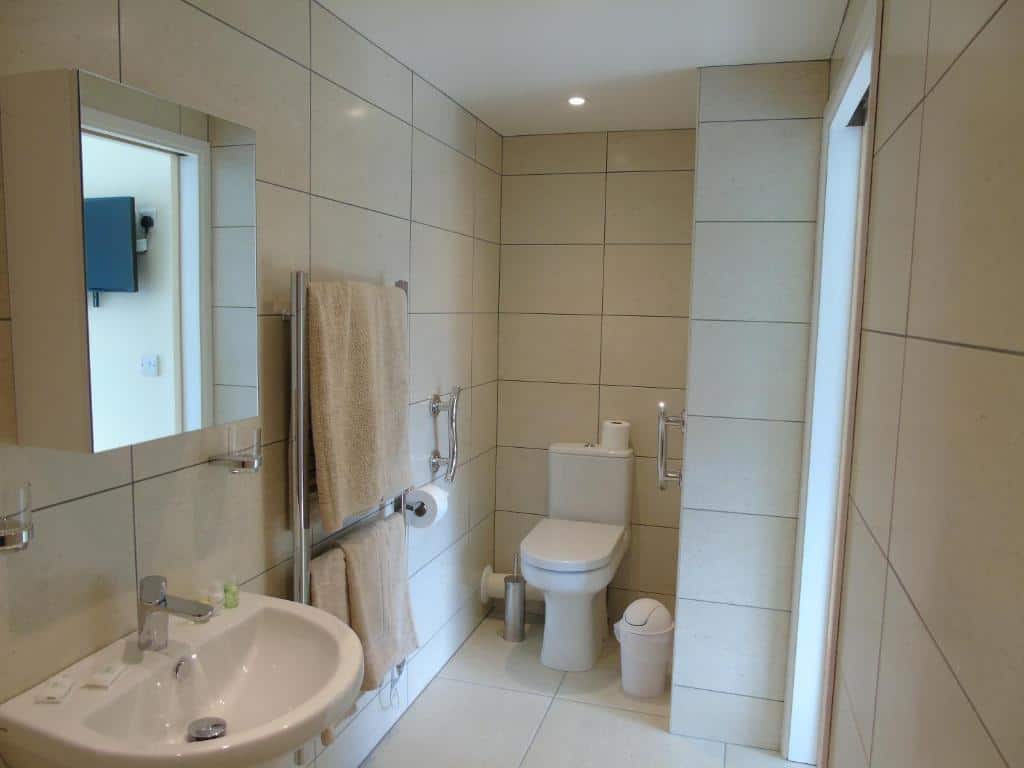
POLYGON ((831 754, 1020 765, 1024 3, 883 11, 831 754))

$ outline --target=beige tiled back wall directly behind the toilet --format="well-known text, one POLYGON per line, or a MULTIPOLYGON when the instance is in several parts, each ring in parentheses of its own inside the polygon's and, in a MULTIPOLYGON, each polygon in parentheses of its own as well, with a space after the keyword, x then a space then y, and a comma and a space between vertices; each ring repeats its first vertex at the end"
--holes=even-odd
MULTIPOLYGON (((656 408, 685 404, 694 131, 504 141, 496 567, 547 513, 547 446, 628 419, 637 452, 617 618, 647 594, 674 609, 679 492, 658 492, 656 408)), ((672 438, 678 462, 682 441, 672 438)), ((678 464, 674 464, 678 468, 678 464)))

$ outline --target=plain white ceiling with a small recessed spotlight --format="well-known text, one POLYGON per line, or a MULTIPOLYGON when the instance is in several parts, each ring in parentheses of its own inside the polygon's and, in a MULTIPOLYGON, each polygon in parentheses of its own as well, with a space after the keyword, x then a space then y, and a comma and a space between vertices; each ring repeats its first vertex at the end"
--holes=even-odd
POLYGON ((695 68, 827 58, 847 0, 321 2, 515 135, 692 127, 695 68))

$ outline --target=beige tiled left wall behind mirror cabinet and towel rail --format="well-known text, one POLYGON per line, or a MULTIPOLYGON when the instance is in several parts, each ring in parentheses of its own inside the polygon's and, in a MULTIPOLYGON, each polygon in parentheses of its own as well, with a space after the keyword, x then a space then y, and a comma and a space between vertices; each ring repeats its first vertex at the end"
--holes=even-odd
MULTIPOLYGON (((255 476, 206 464, 226 449, 224 428, 98 456, 0 445, 0 481, 31 480, 39 509, 36 543, 0 560, 0 699, 130 632, 139 575, 163 572, 173 591, 188 593, 233 573, 248 590, 288 593, 289 336, 280 312, 293 269, 313 280, 411 282, 417 482, 430 479, 430 451, 447 451, 443 429, 437 445, 427 398, 466 387, 465 464, 452 511, 443 524, 410 536, 421 649, 402 682, 407 695, 391 708, 367 707, 374 696, 364 696, 318 762, 358 763, 481 616, 474 585, 492 561, 495 526, 501 137, 331 6, 0 5, 0 35, 15 41, 0 51, 0 74, 82 67, 256 129, 253 311, 266 443, 265 468, 255 476)), ((9 328, 0 248, 6 442, 14 429, 9 328)))

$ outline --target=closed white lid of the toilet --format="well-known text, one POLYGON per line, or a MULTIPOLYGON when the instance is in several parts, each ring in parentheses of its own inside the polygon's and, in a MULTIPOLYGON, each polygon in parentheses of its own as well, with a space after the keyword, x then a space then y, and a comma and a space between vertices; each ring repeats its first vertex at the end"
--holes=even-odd
POLYGON ((526 535, 519 551, 523 561, 537 568, 597 570, 611 560, 624 531, 622 525, 546 518, 526 535))

